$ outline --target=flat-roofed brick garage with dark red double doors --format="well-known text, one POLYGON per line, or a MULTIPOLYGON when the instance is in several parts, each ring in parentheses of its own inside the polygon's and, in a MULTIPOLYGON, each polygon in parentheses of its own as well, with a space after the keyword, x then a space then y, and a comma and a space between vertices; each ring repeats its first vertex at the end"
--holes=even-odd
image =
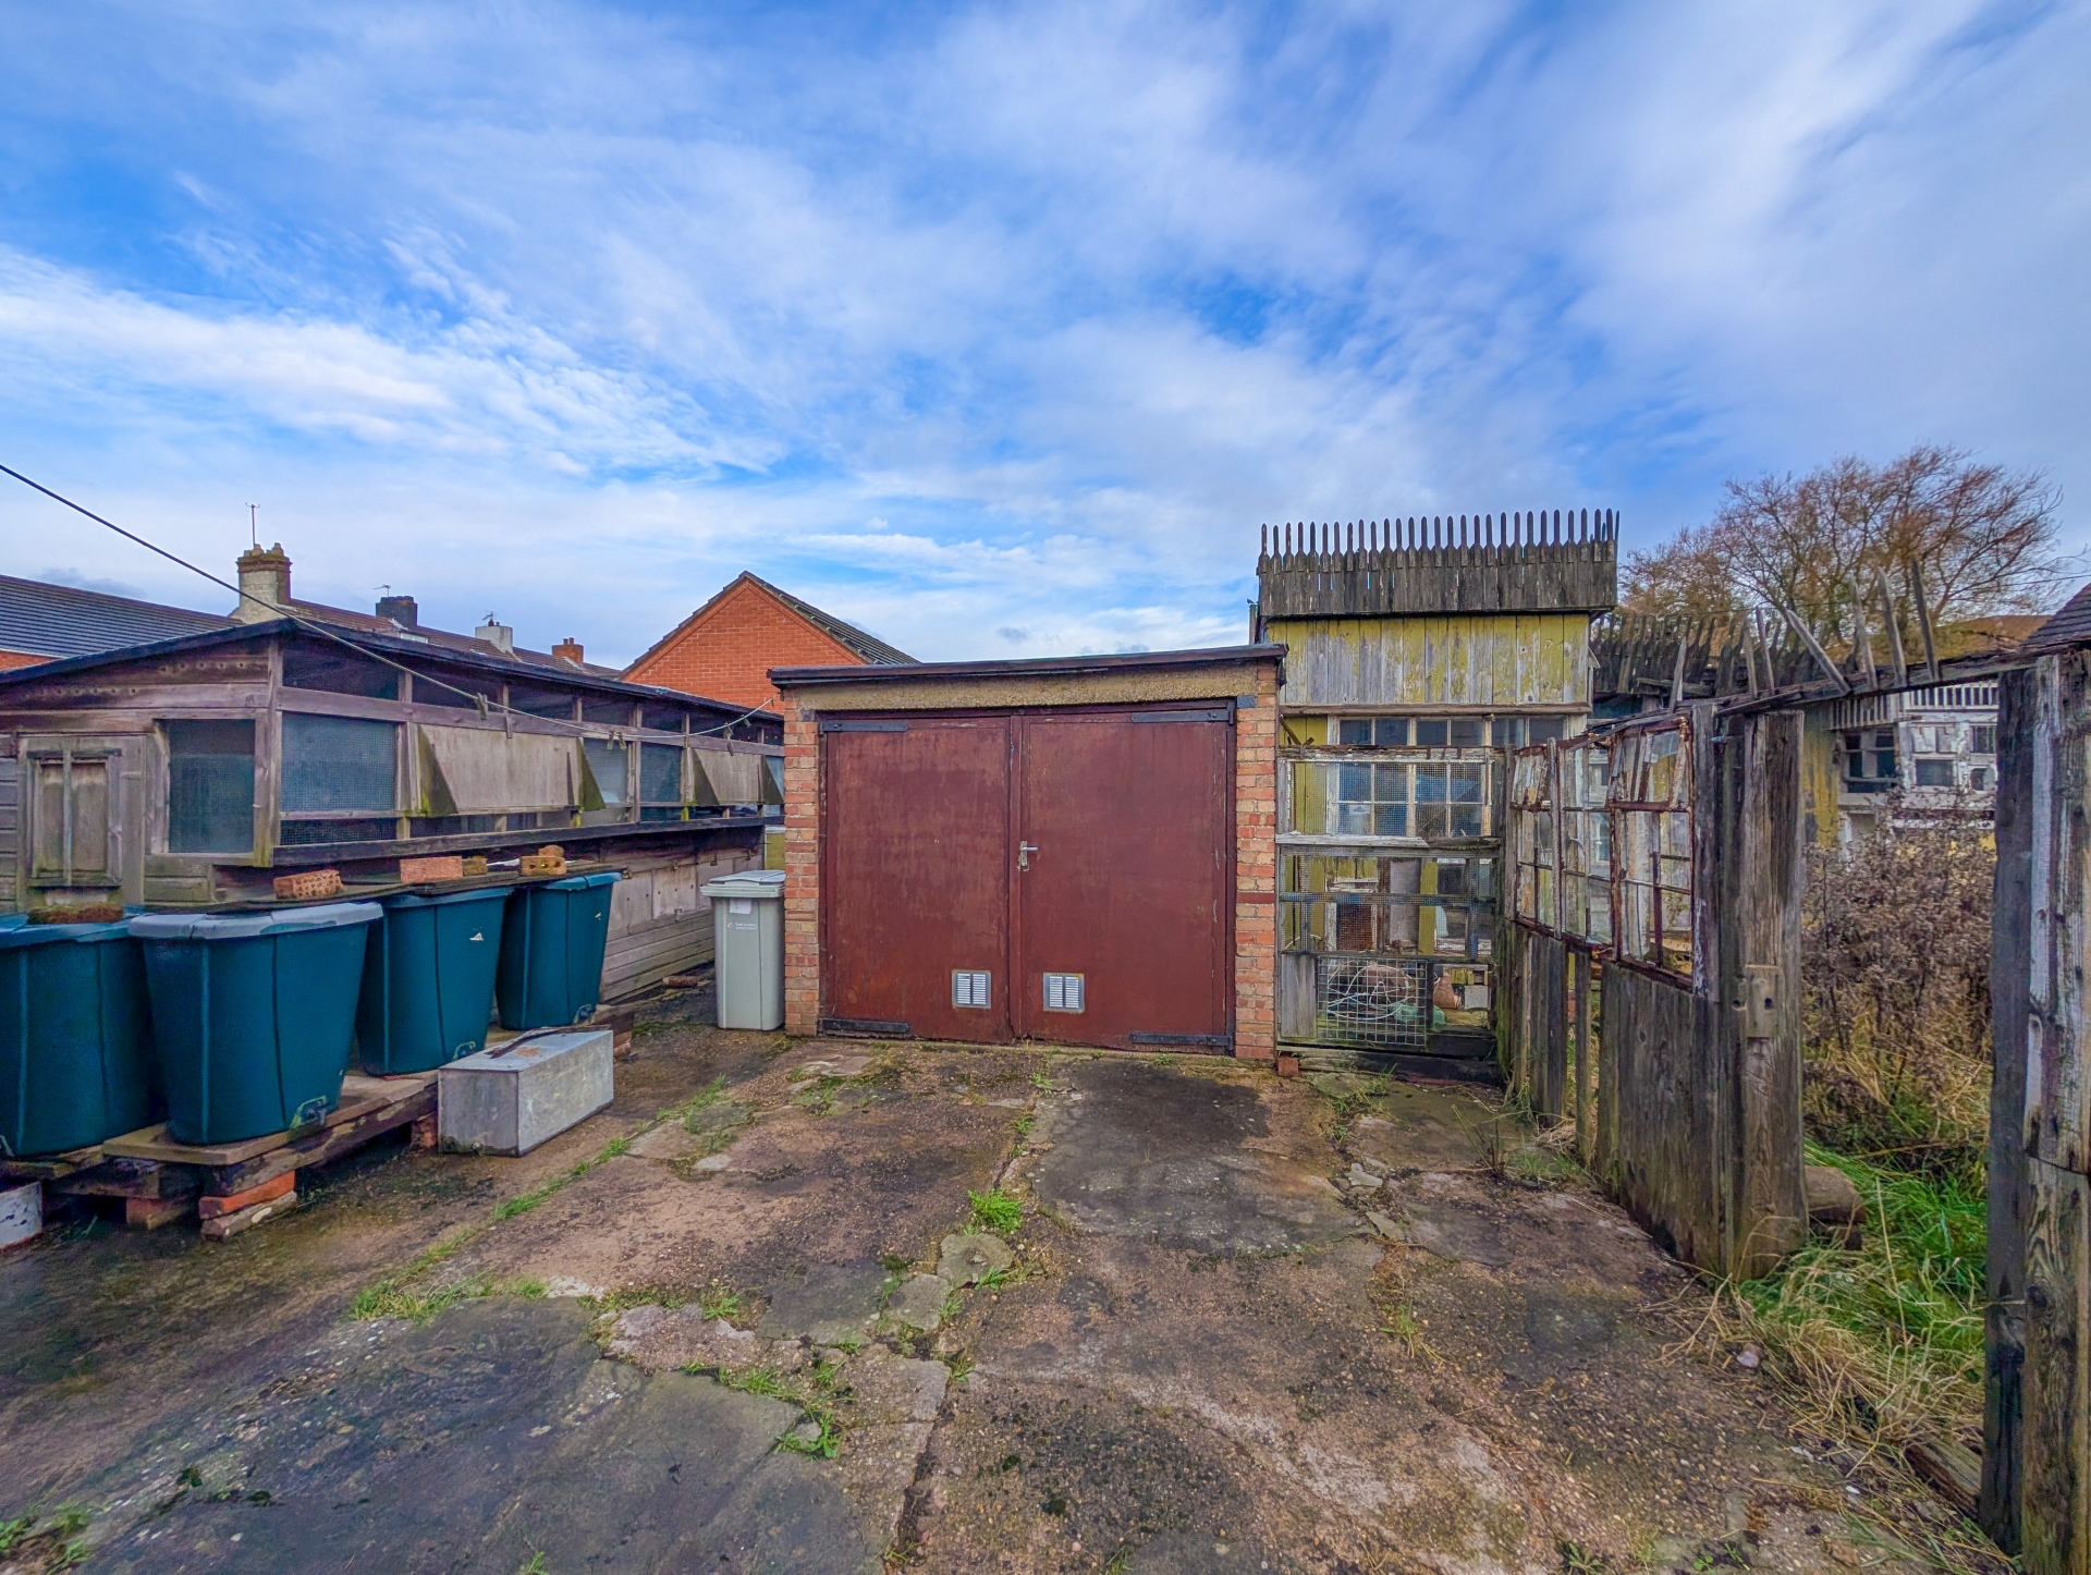
POLYGON ((1267 1056, 1280 655, 774 669, 786 1029, 1267 1056))

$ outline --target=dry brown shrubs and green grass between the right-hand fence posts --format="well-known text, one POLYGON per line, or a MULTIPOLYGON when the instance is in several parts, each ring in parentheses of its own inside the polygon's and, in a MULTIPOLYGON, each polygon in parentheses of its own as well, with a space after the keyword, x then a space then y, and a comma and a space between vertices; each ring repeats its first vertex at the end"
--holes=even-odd
MULTIPOLYGON (((1892 812, 1882 820, 1892 820, 1892 812)), ((1978 1443, 1986 1280, 1986 826, 1945 816, 1811 851, 1802 1035, 1809 1163, 1851 1178, 1863 1236, 1815 1236, 1723 1286, 1708 1330, 1761 1347, 1861 1454, 1978 1443)))

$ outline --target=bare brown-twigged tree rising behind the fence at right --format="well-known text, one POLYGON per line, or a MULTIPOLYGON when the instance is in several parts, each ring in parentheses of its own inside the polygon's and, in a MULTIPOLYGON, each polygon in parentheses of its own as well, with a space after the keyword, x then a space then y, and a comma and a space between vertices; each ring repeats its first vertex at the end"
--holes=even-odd
POLYGON ((1878 575, 1901 592, 1915 563, 1938 623, 2030 613, 2058 569, 2058 502, 2039 471, 1936 443, 1882 466, 1840 458, 1805 477, 1729 481, 1710 525, 1629 558, 1625 607, 1696 617, 1786 607, 1851 648, 1861 607, 1880 627, 1878 575))

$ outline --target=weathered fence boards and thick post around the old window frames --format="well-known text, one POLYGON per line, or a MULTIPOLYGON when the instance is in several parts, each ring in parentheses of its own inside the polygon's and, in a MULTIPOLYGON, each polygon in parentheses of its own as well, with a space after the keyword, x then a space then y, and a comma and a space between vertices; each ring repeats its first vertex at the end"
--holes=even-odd
POLYGON ((1807 1234, 1800 713, 1733 715, 1725 734, 1710 705, 1692 713, 1694 977, 1608 960, 1591 983, 1595 954, 1512 922, 1503 1060, 1537 1113, 1577 1117, 1585 1163, 1669 1251, 1754 1278, 1807 1234), (1752 1037, 1744 987, 1767 973, 1775 1010, 1752 1037), (1591 998, 1593 1069, 1572 1054, 1591 998))

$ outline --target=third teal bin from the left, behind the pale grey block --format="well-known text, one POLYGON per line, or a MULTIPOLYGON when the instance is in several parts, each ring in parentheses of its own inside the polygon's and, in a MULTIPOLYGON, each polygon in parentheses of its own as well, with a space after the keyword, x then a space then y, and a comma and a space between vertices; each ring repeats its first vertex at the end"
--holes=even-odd
POLYGON ((508 891, 385 899, 355 1004, 355 1056, 364 1071, 378 1077, 435 1071, 485 1046, 508 891))

